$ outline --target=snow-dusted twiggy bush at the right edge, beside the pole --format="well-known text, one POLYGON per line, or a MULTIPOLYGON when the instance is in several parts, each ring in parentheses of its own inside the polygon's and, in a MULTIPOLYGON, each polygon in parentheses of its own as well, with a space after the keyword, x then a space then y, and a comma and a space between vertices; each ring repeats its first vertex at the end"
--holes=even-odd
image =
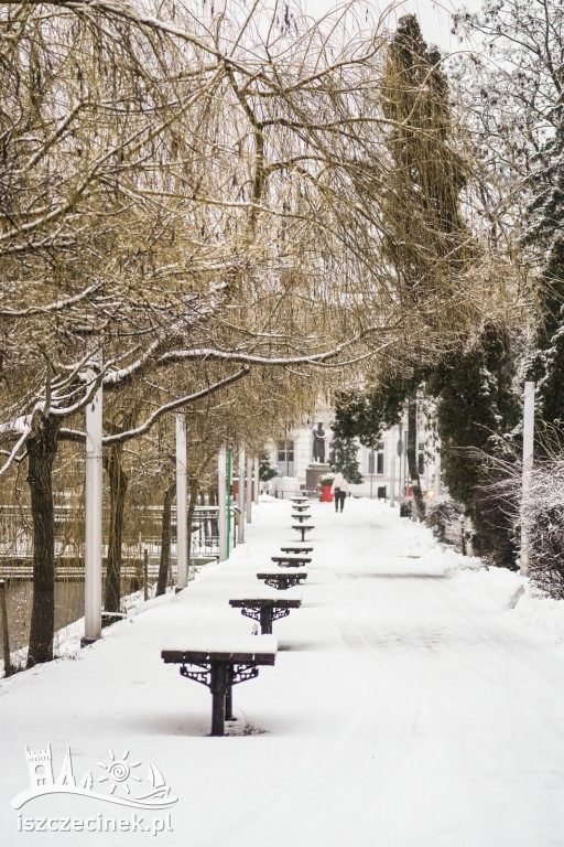
POLYGON ((521 521, 528 527, 531 581, 542 593, 564 599, 564 458, 534 469, 521 521))

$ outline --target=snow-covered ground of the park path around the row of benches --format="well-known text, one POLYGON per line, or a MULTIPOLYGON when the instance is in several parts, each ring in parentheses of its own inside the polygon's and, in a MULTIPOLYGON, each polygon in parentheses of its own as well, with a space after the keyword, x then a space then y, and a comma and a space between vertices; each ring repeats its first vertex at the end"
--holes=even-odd
POLYGON ((1 680, 3 844, 562 847, 563 604, 520 596, 518 576, 478 570, 376 501, 312 504, 302 608, 274 623, 275 666, 234 688, 228 737, 208 736, 208 689, 161 650, 247 639, 228 600, 264 591, 257 571, 297 542, 290 512, 261 503, 247 543, 182 594, 1 680), (178 802, 135 812, 69 793, 12 808, 25 746, 48 743, 55 778, 70 746, 77 784, 90 773, 93 791, 135 794, 152 763, 178 802), (121 818, 129 832, 76 835, 121 818), (165 832, 140 833, 156 818, 165 832), (50 825, 63 832, 36 830, 50 825))

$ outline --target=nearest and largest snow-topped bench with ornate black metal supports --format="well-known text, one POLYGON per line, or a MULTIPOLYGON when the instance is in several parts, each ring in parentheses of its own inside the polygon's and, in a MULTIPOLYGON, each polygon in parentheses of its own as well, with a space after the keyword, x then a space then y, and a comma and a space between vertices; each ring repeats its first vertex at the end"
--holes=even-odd
POLYGON ((232 686, 254 679, 259 665, 273 665, 278 643, 272 635, 249 635, 232 645, 231 636, 210 637, 207 645, 163 650, 165 664, 181 665, 181 675, 212 691, 212 735, 225 733, 225 721, 232 720, 232 686), (224 643, 219 643, 219 641, 224 643))

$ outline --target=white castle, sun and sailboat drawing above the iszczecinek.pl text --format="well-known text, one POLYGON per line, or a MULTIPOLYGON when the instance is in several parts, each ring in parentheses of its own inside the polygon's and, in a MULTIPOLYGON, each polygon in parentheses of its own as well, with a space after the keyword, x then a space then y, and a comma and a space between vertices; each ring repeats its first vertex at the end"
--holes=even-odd
POLYGON ((67 747, 58 776, 54 778, 51 744, 43 750, 30 750, 25 747, 30 787, 12 800, 13 808, 21 808, 25 803, 46 794, 79 794, 83 797, 113 803, 134 808, 170 808, 178 802, 171 795, 164 776, 159 768, 149 763, 147 770, 142 763, 131 761, 129 750, 121 758, 109 751, 107 762, 98 762, 97 770, 88 771, 77 784, 73 770, 70 747, 67 747))

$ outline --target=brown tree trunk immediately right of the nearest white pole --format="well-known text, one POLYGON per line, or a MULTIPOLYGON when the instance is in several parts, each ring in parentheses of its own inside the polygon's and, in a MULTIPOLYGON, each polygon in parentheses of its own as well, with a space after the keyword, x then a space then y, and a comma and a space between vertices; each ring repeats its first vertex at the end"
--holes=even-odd
POLYGON ((123 539, 123 518, 126 494, 129 479, 123 470, 122 447, 110 447, 105 462, 110 483, 110 527, 108 536, 108 568, 104 592, 106 612, 119 612, 121 601, 121 545, 123 539))

